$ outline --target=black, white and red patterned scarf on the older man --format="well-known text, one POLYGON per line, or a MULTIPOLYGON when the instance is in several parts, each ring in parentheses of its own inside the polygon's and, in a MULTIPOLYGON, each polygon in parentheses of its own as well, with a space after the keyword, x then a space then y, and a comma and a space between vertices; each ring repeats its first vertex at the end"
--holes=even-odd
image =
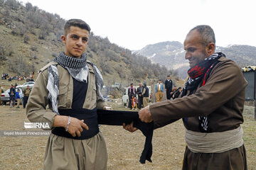
MULTIPOLYGON (((188 80, 183 86, 183 91, 181 97, 186 96, 187 91, 190 91, 188 96, 193 94, 193 91, 197 89, 198 85, 204 86, 208 77, 210 76, 210 72, 213 67, 218 64, 218 59, 220 57, 225 57, 222 52, 216 52, 210 57, 207 57, 205 60, 196 64, 195 67, 188 69, 188 80)), ((183 119, 185 123, 187 123, 188 118, 183 119)), ((208 132, 208 116, 199 116, 199 128, 202 132, 208 132)))

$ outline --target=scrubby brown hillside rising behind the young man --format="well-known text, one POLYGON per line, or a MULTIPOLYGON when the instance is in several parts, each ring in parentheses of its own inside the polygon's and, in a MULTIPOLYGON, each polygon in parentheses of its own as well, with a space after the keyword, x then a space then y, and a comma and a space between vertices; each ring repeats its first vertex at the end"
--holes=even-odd
MULTIPOLYGON (((31 3, 0 0, 0 73, 26 75, 53 60, 64 48, 60 40, 64 23, 58 14, 31 3)), ((102 71, 105 84, 120 82, 127 86, 132 81, 165 79, 166 74, 173 73, 146 57, 132 55, 131 50, 108 38, 94 35, 93 28, 86 53, 88 60, 102 71)))

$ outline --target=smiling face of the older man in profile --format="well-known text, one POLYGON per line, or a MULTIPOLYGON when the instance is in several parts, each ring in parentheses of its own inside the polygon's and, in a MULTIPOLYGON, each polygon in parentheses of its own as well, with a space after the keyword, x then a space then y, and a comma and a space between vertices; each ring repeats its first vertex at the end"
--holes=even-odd
POLYGON ((185 59, 189 61, 191 68, 208 57, 206 54, 206 46, 203 45, 201 35, 197 30, 192 30, 186 36, 184 50, 186 50, 185 59))

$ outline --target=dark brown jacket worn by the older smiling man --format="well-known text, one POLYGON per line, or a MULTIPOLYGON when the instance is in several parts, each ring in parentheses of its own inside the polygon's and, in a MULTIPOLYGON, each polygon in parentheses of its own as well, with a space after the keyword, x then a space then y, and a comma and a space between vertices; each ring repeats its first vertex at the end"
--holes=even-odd
POLYGON ((200 132, 198 116, 208 116, 211 132, 233 130, 243 123, 247 81, 235 62, 225 57, 220 57, 219 61, 205 86, 198 86, 192 95, 154 103, 149 107, 155 128, 188 118, 185 127, 200 132))

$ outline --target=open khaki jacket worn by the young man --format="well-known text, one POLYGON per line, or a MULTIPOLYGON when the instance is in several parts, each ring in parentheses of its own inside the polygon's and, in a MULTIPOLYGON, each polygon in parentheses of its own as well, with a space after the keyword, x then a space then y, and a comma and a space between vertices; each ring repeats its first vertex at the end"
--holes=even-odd
MULTIPOLYGON (((31 122, 48 123, 50 128, 52 128, 55 115, 57 115, 52 111, 51 104, 47 98, 47 68, 51 64, 57 64, 57 62, 50 62, 39 71, 40 73, 38 74, 38 78, 36 79, 26 106, 28 120, 31 122), (47 105, 50 109, 46 109, 47 105)), ((82 108, 103 108, 104 106, 107 106, 107 104, 104 101, 101 101, 99 96, 97 96, 95 73, 92 65, 88 64, 88 67, 90 72, 88 74, 88 88, 85 103, 82 108)), ((70 109, 73 101, 73 78, 68 73, 68 70, 60 65, 57 65, 57 68, 59 74, 58 109, 70 109)))

